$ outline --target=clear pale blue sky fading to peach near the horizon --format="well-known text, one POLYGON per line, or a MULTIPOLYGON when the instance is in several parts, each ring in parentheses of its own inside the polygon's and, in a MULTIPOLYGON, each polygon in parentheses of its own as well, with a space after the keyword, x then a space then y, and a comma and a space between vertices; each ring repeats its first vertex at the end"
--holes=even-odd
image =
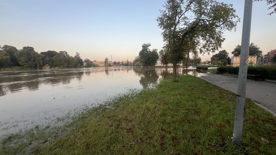
MULTIPOLYGON (((218 0, 222 2, 222 0, 218 0)), ((164 0, 0 0, 0 45, 21 49, 32 46, 47 50, 80 53, 83 59, 133 60, 143 43, 158 51, 163 47, 156 18, 164 0)), ((243 0, 233 3, 241 18, 237 31, 225 32, 222 49, 231 53, 241 43, 243 0)), ((264 53, 276 48, 276 14, 267 15, 264 2, 253 3, 250 42, 264 53)), ((217 52, 216 52, 217 53, 217 52)), ((213 55, 210 54, 210 55, 213 55)), ((209 55, 201 56, 210 58, 209 55)))

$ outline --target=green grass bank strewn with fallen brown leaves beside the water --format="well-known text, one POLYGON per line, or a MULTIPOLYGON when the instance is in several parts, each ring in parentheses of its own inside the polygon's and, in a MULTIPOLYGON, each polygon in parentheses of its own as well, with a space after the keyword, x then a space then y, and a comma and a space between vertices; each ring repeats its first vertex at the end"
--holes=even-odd
POLYGON ((5 138, 0 154, 275 154, 273 115, 247 100, 237 147, 231 139, 235 94, 191 75, 179 81, 92 108, 66 134, 48 133, 52 141, 5 138))

